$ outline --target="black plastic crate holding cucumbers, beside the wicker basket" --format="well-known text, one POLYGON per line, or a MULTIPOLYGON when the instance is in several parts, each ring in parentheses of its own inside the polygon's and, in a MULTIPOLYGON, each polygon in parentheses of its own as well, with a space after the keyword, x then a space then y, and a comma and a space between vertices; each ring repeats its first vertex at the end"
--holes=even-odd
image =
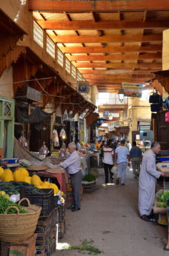
POLYGON ((44 194, 27 194, 24 196, 29 199, 31 204, 41 206, 41 217, 48 217, 55 208, 54 189, 42 189, 44 194))

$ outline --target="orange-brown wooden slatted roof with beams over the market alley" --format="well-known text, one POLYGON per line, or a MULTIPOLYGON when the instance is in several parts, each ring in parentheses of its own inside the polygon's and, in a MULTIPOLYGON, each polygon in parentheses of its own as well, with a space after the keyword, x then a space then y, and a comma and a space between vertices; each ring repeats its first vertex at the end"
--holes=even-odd
POLYGON ((168 0, 29 0, 41 28, 99 92, 144 83, 162 68, 168 0))

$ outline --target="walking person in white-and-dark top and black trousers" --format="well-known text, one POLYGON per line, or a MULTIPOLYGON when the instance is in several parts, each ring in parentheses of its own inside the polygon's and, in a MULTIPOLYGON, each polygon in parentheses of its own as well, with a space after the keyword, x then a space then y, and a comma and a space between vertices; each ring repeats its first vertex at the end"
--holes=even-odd
POLYGON ((114 166, 114 150, 110 148, 111 141, 107 142, 107 145, 103 147, 103 163, 105 170, 105 183, 108 183, 108 171, 110 172, 110 182, 114 179, 114 173, 111 172, 112 167, 114 166))

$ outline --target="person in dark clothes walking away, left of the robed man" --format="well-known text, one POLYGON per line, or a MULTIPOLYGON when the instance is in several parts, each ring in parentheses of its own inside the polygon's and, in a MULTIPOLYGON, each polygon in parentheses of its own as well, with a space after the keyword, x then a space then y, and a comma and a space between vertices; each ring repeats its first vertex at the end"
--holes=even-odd
POLYGON ((135 175, 135 179, 137 179, 140 174, 140 162, 142 157, 142 150, 139 147, 136 147, 136 141, 133 141, 133 147, 129 151, 129 154, 131 157, 133 173, 135 175))

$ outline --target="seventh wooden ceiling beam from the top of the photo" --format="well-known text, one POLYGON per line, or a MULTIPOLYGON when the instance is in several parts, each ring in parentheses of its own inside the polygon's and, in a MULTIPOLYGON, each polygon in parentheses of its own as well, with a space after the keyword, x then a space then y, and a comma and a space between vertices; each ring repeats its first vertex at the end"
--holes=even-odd
MULTIPOLYGON (((79 72, 83 75, 85 74, 93 74, 93 75, 107 75, 107 74, 114 74, 114 75, 121 75, 123 72, 125 72, 125 74, 132 74, 132 75, 145 75, 145 74, 151 74, 151 72, 155 72, 154 69, 152 70, 136 70, 136 71, 132 71, 131 69, 129 70, 123 70, 123 69, 119 69, 119 70, 91 70, 91 69, 83 69, 83 68, 78 68, 79 72)), ((158 71, 158 69, 157 69, 158 71)), ((123 73, 124 74, 124 73, 123 73)), ((85 77, 85 76, 84 76, 85 77)))

